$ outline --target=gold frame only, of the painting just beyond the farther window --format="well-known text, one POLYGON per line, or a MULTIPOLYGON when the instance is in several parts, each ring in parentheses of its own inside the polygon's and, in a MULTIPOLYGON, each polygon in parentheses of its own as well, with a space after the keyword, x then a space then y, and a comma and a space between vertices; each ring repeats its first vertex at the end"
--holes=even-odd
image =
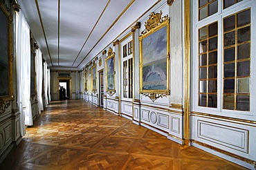
POLYGON ((113 95, 114 93, 116 93, 116 82, 115 82, 115 76, 116 76, 116 71, 115 71, 115 53, 113 52, 112 48, 109 48, 109 51, 107 53, 107 57, 105 59, 105 66, 106 66, 106 91, 109 95, 113 95), (113 86, 114 86, 114 89, 108 89, 108 65, 107 65, 107 61, 109 59, 113 58, 113 86))

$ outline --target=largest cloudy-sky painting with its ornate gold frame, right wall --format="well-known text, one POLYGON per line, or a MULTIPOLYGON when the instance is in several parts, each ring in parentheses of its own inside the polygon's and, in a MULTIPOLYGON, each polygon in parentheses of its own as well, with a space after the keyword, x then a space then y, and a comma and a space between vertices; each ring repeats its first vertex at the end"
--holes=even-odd
POLYGON ((140 93, 170 95, 170 19, 152 12, 145 28, 139 37, 140 93))

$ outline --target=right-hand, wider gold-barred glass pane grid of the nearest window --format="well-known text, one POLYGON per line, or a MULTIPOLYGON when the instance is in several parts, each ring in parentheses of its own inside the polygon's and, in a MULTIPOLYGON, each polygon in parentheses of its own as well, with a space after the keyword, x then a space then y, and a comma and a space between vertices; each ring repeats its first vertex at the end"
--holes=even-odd
POLYGON ((250 9, 223 23, 223 108, 250 111, 250 9))

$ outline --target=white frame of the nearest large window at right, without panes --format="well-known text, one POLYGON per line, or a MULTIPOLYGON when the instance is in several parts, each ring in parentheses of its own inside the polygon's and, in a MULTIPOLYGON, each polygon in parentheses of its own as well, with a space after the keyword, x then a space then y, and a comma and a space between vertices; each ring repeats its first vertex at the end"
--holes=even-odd
POLYGON ((210 113, 213 115, 222 115, 227 117, 237 117, 241 119, 256 120, 256 33, 253 31, 256 28, 256 1, 244 0, 239 3, 223 9, 223 0, 218 1, 218 12, 214 15, 210 15, 205 19, 199 21, 199 1, 193 1, 192 4, 192 44, 191 44, 191 109, 194 112, 210 113), (235 111, 223 109, 223 18, 229 15, 235 14, 241 10, 250 8, 250 111, 235 111), (210 23, 218 22, 218 62, 217 62, 217 108, 210 108, 199 105, 199 69, 198 69, 198 49, 199 39, 198 30, 203 26, 207 26, 210 23), (252 117, 254 116, 254 117, 252 117))

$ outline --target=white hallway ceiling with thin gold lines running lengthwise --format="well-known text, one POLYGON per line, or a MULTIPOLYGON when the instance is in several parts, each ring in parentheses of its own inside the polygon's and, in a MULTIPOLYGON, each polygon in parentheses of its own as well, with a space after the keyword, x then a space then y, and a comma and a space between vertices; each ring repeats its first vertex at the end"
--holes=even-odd
POLYGON ((80 70, 159 0, 17 0, 51 69, 80 70))

